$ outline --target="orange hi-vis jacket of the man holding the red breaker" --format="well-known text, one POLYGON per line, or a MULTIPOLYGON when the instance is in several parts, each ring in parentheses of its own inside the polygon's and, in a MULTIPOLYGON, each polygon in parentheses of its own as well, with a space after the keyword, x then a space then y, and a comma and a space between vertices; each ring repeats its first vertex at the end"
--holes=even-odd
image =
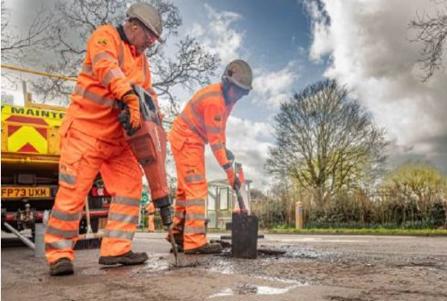
POLYGON ((150 74, 145 54, 137 55, 122 26, 99 27, 87 43, 67 120, 71 120, 73 128, 95 138, 122 137, 116 101, 132 89, 132 84, 143 87, 156 99, 150 74))

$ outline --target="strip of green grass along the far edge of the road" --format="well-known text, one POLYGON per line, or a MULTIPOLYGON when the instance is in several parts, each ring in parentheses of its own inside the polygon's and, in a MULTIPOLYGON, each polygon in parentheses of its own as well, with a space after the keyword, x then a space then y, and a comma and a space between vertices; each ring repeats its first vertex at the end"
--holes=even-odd
POLYGON ((350 235, 411 235, 411 236, 447 236, 447 229, 403 229, 403 228, 284 228, 266 229, 274 234, 350 234, 350 235))

